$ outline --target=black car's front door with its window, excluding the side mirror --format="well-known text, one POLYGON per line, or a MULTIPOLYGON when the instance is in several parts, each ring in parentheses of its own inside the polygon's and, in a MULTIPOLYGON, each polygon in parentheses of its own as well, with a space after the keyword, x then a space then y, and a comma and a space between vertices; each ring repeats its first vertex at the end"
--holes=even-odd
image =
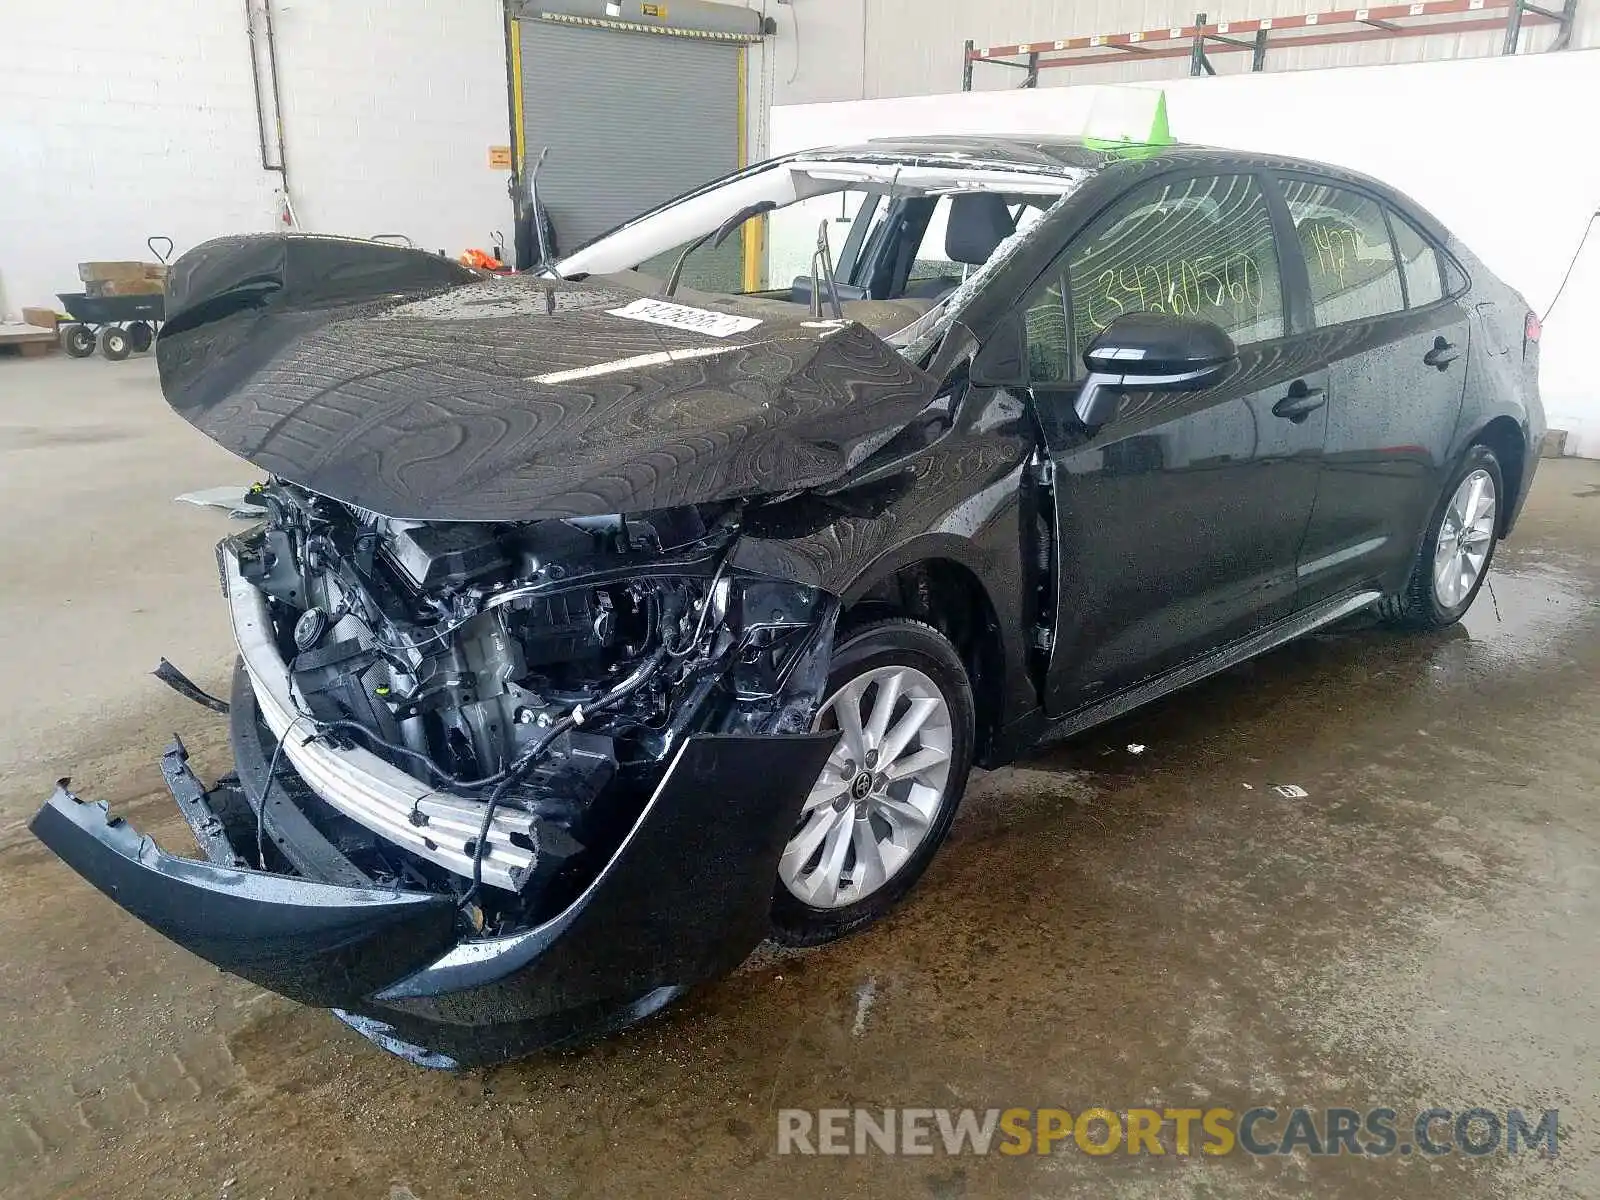
POLYGON ((1062 714, 1291 611, 1326 376, 1290 336, 1253 174, 1141 184, 1035 291, 1027 358, 1058 541, 1048 707, 1062 714), (1214 322, 1238 346, 1238 368, 1202 392, 1126 392, 1115 418, 1085 434, 1072 416, 1080 355, 1133 310, 1214 322))

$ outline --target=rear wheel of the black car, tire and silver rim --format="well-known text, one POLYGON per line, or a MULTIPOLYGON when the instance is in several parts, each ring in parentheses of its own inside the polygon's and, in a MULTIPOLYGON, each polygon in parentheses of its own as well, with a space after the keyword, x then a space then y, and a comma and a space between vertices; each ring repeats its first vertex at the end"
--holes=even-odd
POLYGON ((1429 517, 1411 578, 1403 590, 1379 602, 1379 616, 1402 629, 1456 624, 1488 579, 1504 502, 1504 475, 1494 451, 1467 446, 1429 517))

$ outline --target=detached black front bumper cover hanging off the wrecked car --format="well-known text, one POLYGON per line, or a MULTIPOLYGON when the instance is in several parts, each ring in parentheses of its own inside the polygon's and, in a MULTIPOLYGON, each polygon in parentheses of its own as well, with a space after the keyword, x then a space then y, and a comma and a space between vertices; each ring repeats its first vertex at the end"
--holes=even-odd
POLYGON ((578 899, 506 938, 467 934, 451 896, 234 866, 216 792, 181 744, 163 773, 210 861, 160 850, 64 784, 30 829, 224 971, 338 1010, 422 1066, 472 1066, 610 1032, 733 970, 765 936, 778 858, 835 739, 688 738, 578 899))

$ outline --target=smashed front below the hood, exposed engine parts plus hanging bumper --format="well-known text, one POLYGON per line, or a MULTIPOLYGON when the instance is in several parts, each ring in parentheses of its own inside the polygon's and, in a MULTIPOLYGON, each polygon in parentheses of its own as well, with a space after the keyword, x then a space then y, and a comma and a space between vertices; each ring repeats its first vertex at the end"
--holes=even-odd
POLYGON ((272 480, 218 547, 237 773, 163 760, 205 862, 59 787, 35 834, 221 968, 432 1066, 605 1032, 731 970, 837 738, 838 602, 738 502, 394 520, 272 480))

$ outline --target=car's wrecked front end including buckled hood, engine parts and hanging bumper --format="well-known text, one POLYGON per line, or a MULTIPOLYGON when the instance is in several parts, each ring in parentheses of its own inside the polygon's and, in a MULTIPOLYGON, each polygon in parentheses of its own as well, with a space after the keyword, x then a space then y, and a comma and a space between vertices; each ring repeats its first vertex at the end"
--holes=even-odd
POLYGON ((218 547, 237 770, 166 758, 206 861, 66 787, 37 835, 422 1062, 603 1032, 744 958, 838 738, 845 584, 754 518, 882 470, 938 378, 859 320, 651 293, 302 235, 174 262, 168 403, 267 475, 218 547))

